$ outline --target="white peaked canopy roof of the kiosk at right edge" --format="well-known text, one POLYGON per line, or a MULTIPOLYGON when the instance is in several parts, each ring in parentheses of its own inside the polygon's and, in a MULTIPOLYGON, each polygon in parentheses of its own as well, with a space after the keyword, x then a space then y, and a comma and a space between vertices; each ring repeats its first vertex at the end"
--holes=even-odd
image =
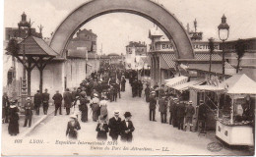
POLYGON ((228 94, 256 94, 256 82, 246 75, 233 75, 221 83, 228 94))

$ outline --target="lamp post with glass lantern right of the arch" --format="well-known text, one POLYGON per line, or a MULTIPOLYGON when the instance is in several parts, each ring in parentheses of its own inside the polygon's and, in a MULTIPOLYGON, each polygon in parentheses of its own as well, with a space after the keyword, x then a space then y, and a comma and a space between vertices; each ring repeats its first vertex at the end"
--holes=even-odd
POLYGON ((223 41, 223 75, 224 75, 224 41, 228 38, 229 35, 229 26, 226 24, 226 18, 223 16, 222 23, 218 26, 219 29, 219 38, 223 41))

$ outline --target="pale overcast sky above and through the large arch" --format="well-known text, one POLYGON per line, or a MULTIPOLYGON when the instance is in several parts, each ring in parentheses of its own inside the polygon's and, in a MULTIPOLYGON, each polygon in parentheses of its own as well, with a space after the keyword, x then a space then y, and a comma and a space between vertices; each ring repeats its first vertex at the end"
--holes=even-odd
MULTIPOLYGON (((75 8, 88 0, 5 0, 4 27, 17 27, 21 15, 25 12, 33 25, 42 25, 43 36, 50 33, 75 8)), ((197 19, 198 30, 203 31, 204 40, 214 37, 218 40, 218 28, 225 15, 230 26, 228 39, 256 37, 256 0, 156 0, 186 26, 197 19)), ((101 43, 104 53, 125 53, 129 40, 146 41, 150 21, 131 14, 113 13, 100 16, 84 27, 93 29, 97 34, 97 50, 101 43), (102 25, 108 24, 108 25, 102 25)))

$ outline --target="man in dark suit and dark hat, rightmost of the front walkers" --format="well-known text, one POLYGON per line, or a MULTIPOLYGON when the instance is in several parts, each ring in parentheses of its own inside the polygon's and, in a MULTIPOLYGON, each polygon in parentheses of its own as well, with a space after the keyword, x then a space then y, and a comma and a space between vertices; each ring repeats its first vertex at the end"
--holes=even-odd
POLYGON ((133 123, 131 122, 131 113, 125 112, 124 118, 125 120, 121 123, 121 140, 124 142, 131 142, 133 140, 132 132, 135 130, 133 123))

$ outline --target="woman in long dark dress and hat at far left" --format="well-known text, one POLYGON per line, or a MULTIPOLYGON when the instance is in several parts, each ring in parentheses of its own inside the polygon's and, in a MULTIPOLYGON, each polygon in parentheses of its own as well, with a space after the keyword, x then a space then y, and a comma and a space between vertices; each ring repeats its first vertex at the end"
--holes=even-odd
POLYGON ((8 132, 11 135, 17 135, 20 133, 19 131, 19 109, 16 106, 17 101, 12 100, 10 105, 10 117, 9 117, 9 126, 8 126, 8 132))

